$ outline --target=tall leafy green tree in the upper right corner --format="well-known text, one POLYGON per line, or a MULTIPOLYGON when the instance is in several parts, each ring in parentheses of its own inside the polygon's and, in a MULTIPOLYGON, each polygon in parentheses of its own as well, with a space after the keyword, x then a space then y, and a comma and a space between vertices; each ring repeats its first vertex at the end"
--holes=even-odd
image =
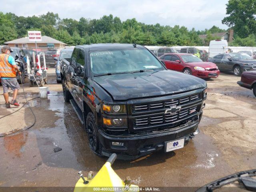
POLYGON ((233 28, 241 38, 256 34, 255 0, 229 0, 226 6, 226 14, 229 16, 222 20, 222 24, 233 28))

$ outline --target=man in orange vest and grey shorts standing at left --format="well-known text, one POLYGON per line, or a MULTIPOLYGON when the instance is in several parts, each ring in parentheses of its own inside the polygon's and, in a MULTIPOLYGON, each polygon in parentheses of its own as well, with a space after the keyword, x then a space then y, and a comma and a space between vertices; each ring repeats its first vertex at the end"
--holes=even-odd
POLYGON ((9 46, 3 46, 1 48, 2 54, 0 54, 0 78, 1 83, 4 89, 4 100, 6 108, 10 108, 10 104, 14 106, 20 106, 18 104, 16 97, 18 94, 18 90, 20 89, 20 85, 16 79, 16 72, 21 74, 20 69, 16 66, 14 58, 10 55, 12 52, 9 46), (13 98, 12 101, 9 102, 8 89, 11 88, 13 90, 13 98))

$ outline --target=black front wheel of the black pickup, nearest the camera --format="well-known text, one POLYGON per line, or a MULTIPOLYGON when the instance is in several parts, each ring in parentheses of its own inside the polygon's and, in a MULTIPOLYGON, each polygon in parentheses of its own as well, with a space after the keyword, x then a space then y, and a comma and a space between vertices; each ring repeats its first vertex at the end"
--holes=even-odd
POLYGON ((101 155, 102 146, 97 136, 97 125, 92 112, 89 112, 86 117, 86 132, 90 149, 97 155, 101 155))

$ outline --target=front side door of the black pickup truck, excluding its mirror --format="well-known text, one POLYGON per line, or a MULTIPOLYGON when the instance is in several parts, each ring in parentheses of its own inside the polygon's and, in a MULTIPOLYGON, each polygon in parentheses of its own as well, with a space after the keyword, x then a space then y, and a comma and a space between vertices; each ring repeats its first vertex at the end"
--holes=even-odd
MULTIPOLYGON (((77 62, 76 62, 76 67, 80 67, 82 71, 85 72, 85 52, 84 50, 80 49, 80 52, 78 54, 77 62)), ((82 81, 84 80, 84 77, 78 77, 74 79, 73 82, 73 92, 74 96, 76 97, 76 102, 82 109, 83 103, 82 103, 82 96, 83 96, 83 83, 82 81)))

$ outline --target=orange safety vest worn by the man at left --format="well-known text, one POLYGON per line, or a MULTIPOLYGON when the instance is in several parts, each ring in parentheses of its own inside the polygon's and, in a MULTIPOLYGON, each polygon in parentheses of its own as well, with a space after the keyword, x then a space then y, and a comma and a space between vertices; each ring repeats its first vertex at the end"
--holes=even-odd
POLYGON ((16 77, 16 71, 12 64, 8 62, 8 54, 0 54, 0 77, 14 78, 16 77))

